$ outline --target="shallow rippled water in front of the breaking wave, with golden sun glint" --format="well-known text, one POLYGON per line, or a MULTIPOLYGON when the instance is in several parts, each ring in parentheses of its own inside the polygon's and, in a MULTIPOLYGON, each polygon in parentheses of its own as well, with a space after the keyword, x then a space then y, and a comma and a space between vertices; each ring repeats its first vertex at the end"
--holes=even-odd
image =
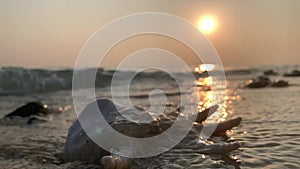
MULTIPOLYGON (((197 103, 201 108, 219 104, 218 112, 209 121, 236 116, 243 118, 240 126, 227 133, 227 141, 242 142, 240 150, 227 156, 204 156, 189 147, 174 148, 157 157, 135 160, 132 168, 299 168, 300 86, 239 88, 244 81, 259 73, 227 76, 224 103, 218 91, 201 91, 201 103, 197 103)), ((300 85, 300 78, 272 77, 277 78, 300 85)), ((167 83, 157 84, 169 93, 176 93, 174 87, 167 83)), ((134 86, 132 103, 149 106, 146 96, 152 85, 153 82, 147 81, 134 86)), ((97 89, 97 96, 109 96, 107 88, 97 89)), ((168 99, 175 103, 179 101, 175 94, 170 94, 168 99)), ((0 120, 0 168, 101 168, 83 162, 63 163, 61 160, 68 128, 76 120, 71 91, 0 96, 0 117, 30 101, 43 101, 49 107, 64 107, 66 110, 46 117, 46 123, 28 125, 24 119, 0 120)), ((224 142, 224 139, 212 138, 210 141, 218 143, 224 142)))

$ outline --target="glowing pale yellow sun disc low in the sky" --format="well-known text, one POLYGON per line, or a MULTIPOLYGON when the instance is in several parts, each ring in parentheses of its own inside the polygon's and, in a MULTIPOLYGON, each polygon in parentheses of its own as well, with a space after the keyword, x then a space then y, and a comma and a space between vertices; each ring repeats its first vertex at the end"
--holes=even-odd
POLYGON ((211 15, 203 16, 198 20, 197 27, 204 34, 211 34, 217 29, 217 20, 211 15))

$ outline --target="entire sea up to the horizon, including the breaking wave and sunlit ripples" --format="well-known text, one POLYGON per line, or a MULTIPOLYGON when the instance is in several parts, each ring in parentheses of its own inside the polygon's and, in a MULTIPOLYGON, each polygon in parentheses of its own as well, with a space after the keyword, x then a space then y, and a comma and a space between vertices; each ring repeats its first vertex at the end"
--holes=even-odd
MULTIPOLYGON (((299 68, 299 65, 227 68, 225 86, 218 86, 217 76, 203 76, 189 82, 185 81, 184 72, 177 72, 179 82, 185 86, 184 91, 179 91, 176 81, 166 73, 151 71, 137 74, 129 88, 133 105, 148 108, 151 104, 149 93, 153 89, 163 91, 167 101, 173 104, 179 104, 182 92, 187 97, 198 92, 200 100, 194 103, 191 99, 191 105, 199 109, 219 105, 207 123, 238 116, 243 118, 238 127, 227 132, 227 139, 214 137, 209 142, 238 141, 242 147, 222 156, 202 155, 189 148, 171 149, 155 157, 136 159, 132 168, 300 168, 300 77, 283 77, 284 73, 299 68), (286 80, 291 86, 243 87, 248 79, 258 77, 268 69, 279 73, 269 76, 272 81, 286 80), (211 90, 212 87, 216 90, 211 90)), ((95 81, 97 97, 112 97, 110 82, 114 72, 98 69, 95 81)), ((135 72, 121 72, 124 79, 132 73, 135 72)), ((61 159, 68 129, 77 118, 72 99, 72 75, 72 69, 0 68, 0 118, 31 101, 40 101, 51 109, 62 111, 34 124, 27 124, 24 119, 2 118, 0 168, 101 168, 84 162, 64 163, 61 159)), ((120 92, 114 97, 121 103, 124 99, 125 103, 128 93, 123 90, 126 86, 123 86, 122 80, 117 80, 120 92)), ((85 89, 79 90, 84 93, 85 89)), ((158 102, 155 106, 163 105, 158 102)))

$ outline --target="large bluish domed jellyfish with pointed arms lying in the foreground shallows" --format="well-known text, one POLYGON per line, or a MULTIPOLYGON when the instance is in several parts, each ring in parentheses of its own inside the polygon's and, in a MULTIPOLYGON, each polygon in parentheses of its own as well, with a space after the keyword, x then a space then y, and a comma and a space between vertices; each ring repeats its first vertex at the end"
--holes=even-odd
MULTIPOLYGON (((93 118, 97 117, 97 112, 94 111, 95 105, 99 107, 99 110, 101 111, 101 114, 103 115, 104 119, 107 121, 108 124, 110 124, 110 126, 113 129, 115 129, 119 133, 135 138, 147 138, 156 136, 168 129, 173 124, 174 119, 176 119, 175 116, 168 117, 164 115, 161 115, 159 118, 154 118, 147 112, 141 113, 136 109, 114 104, 108 99, 98 99, 97 101, 94 101, 87 105, 87 107, 79 116, 80 122, 79 120, 77 120, 70 127, 69 134, 64 147, 65 161, 86 161, 89 163, 97 164, 100 164, 102 162, 106 169, 121 169, 128 167, 130 159, 110 154, 110 152, 102 149, 95 142, 93 142, 93 140, 87 135, 85 130, 82 128, 81 123, 88 125, 89 130, 92 131, 94 128, 95 130, 96 128, 99 128, 100 121, 96 118, 93 118), (122 116, 119 111, 122 112, 122 115, 124 115, 123 113, 128 115, 126 116, 127 119, 124 116, 122 116), (138 119, 147 119, 148 122, 140 122, 138 120, 135 120, 137 116, 141 115, 143 116, 143 118, 139 117, 138 119)), ((215 110, 215 107, 212 107, 211 109, 215 110)), ((207 113, 204 113, 205 116, 207 116, 207 113)), ((178 114, 179 113, 177 112, 176 115, 178 116, 178 114)), ((205 118, 201 118, 201 120, 205 120, 205 118)), ((240 123, 240 121, 241 118, 237 118, 228 122, 223 122, 220 125, 218 125, 216 130, 218 130, 217 132, 226 131, 227 129, 231 129, 232 127, 237 126, 240 123)), ((203 126, 200 123, 195 124, 192 131, 189 133, 189 135, 194 136, 188 136, 188 138, 199 139, 199 133, 201 132, 202 127, 203 126)), ((96 134, 97 138, 101 139, 101 133, 103 132, 98 132, 96 134)), ((109 140, 109 138, 103 139, 109 140)), ((209 146, 206 146, 205 144, 199 142, 197 142, 196 144, 199 144, 199 149, 196 150, 196 152, 203 154, 223 154, 238 149, 240 147, 238 143, 224 143, 217 145, 213 144, 209 146)))

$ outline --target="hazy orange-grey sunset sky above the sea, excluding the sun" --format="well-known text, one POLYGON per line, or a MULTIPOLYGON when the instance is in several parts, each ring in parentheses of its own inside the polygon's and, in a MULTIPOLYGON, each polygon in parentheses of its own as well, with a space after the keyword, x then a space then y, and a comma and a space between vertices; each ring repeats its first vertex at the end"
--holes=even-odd
MULTIPOLYGON (((215 16, 218 28, 208 37, 225 66, 300 64, 299 0, 1 0, 0 66, 73 67, 96 30, 136 12, 166 12, 193 24, 203 15, 215 16)), ((147 38, 157 40, 156 47, 164 44, 147 38)), ((130 53, 126 43, 132 42, 115 47, 105 66, 130 53)), ((193 62, 188 50, 170 47, 176 43, 169 40, 162 48, 193 62)))

